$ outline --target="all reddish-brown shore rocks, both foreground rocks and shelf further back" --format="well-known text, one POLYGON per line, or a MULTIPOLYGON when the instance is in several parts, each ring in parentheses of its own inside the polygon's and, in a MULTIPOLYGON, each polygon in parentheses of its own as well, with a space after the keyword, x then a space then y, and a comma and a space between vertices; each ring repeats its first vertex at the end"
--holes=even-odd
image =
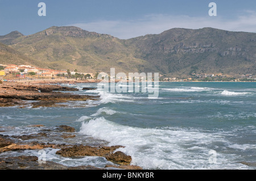
MULTIPOLYGON (((93 88, 92 88, 93 89, 93 88)), ((0 84, 0 107, 27 106, 36 107, 65 107, 61 104, 65 102, 76 102, 87 100, 98 100, 98 96, 77 95, 64 93, 63 91, 78 91, 71 87, 57 85, 44 85, 39 83, 13 83, 5 82, 0 84), (59 92, 61 91, 61 92, 59 92), (32 102, 31 102, 32 101, 32 102)), ((31 155, 20 155, 25 150, 59 149, 56 155, 60 157, 104 157, 113 165, 106 165, 108 169, 142 169, 131 165, 131 157, 116 151, 122 146, 89 146, 82 144, 69 144, 65 139, 75 138, 77 135, 75 128, 68 125, 57 125, 54 129, 46 128, 44 125, 30 125, 30 127, 40 128, 40 132, 35 134, 10 136, 8 128, 0 127, 0 169, 3 170, 97 170, 105 169, 90 165, 68 167, 59 163, 46 161, 39 163, 39 157, 31 155), (42 128, 42 129, 41 129, 42 128), (46 129, 43 129, 46 128, 46 129), (40 142, 40 140, 44 140, 40 142), (48 141, 45 141, 48 140, 48 141), (64 144, 52 144, 51 140, 63 140, 64 144), (10 152, 11 151, 11 152, 10 152), (18 156, 6 157, 3 153, 19 153, 18 156)))

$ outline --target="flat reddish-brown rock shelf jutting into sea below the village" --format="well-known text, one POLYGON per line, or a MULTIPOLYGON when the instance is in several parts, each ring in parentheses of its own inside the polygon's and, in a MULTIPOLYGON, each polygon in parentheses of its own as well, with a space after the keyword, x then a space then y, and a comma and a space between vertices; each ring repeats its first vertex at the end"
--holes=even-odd
POLYGON ((66 107, 60 104, 69 101, 97 100, 98 96, 77 95, 59 91, 79 91, 72 87, 5 82, 0 84, 0 107, 32 106, 66 107), (28 101, 36 102, 28 102, 28 101))

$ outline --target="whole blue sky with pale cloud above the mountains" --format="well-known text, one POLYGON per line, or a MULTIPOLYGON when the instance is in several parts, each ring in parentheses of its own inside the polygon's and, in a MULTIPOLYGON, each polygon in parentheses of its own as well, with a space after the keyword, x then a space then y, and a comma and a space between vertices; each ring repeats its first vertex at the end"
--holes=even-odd
POLYGON ((52 26, 77 26, 119 39, 171 28, 256 32, 256 1, 0 0, 0 35, 31 35, 52 26), (38 15, 40 2, 46 4, 46 16, 38 15), (217 16, 209 16, 210 2, 216 3, 217 16))

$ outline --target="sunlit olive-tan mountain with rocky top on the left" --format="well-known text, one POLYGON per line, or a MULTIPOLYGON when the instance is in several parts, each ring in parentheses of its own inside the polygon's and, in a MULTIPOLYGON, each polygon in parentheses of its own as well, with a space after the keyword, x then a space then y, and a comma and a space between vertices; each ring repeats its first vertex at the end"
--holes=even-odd
POLYGON ((34 35, 20 36, 10 45, 52 69, 83 72, 137 70, 146 61, 135 58, 122 41, 77 27, 51 27, 34 35))

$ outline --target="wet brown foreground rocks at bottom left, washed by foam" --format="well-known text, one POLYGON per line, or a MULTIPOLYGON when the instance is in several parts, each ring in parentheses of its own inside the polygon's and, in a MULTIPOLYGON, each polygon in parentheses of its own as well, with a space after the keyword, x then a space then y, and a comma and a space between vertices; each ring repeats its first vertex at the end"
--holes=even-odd
MULTIPOLYGON (((31 125, 31 127, 44 127, 44 125, 31 125)), ((55 129, 42 129, 38 134, 28 134, 20 136, 7 136, 0 134, 0 170, 98 170, 98 169, 126 169, 126 170, 141 170, 139 166, 130 165, 131 157, 116 151, 116 149, 123 146, 88 146, 88 145, 71 145, 71 144, 51 144, 49 142, 39 142, 40 138, 52 137, 55 140, 61 138, 76 137, 75 128, 67 125, 56 126, 55 129), (61 134, 55 134, 61 133, 61 134), (59 137, 59 138, 58 138, 59 137), (46 161, 39 162, 39 157, 29 155, 19 155, 16 157, 1 157, 2 153, 8 151, 24 150, 43 150, 47 148, 59 149, 56 151, 57 155, 61 157, 105 157, 106 160, 113 163, 113 165, 106 165, 105 168, 98 168, 91 165, 68 167, 59 163, 46 161)), ((14 153, 14 152, 13 152, 14 153)))

